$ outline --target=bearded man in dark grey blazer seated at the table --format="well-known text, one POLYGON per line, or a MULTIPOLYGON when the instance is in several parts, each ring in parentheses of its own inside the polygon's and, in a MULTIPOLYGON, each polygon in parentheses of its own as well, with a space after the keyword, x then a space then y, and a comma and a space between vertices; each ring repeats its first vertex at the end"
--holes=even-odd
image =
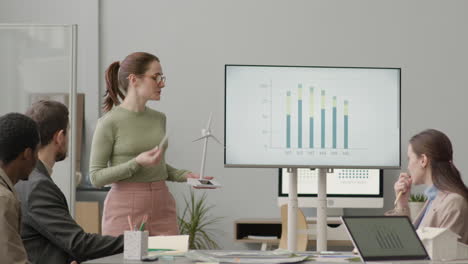
POLYGON ((21 238, 32 263, 70 263, 123 251, 123 237, 89 234, 69 213, 64 194, 51 178, 55 162, 68 151, 68 109, 54 101, 39 101, 26 113, 37 122, 41 137, 39 161, 15 189, 21 201, 21 238))

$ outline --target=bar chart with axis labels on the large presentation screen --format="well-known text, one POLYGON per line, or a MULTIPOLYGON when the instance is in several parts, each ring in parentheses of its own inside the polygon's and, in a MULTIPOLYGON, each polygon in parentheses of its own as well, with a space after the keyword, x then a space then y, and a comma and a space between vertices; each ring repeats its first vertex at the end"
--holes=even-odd
POLYGON ((354 125, 350 124, 353 112, 363 111, 359 104, 365 102, 358 98, 354 98, 355 103, 351 102, 350 96, 337 91, 333 80, 298 82, 284 89, 275 89, 274 85, 273 80, 259 84, 264 91, 262 133, 266 136, 266 150, 281 150, 286 155, 330 157, 366 149, 365 143, 350 142, 349 131, 354 125))

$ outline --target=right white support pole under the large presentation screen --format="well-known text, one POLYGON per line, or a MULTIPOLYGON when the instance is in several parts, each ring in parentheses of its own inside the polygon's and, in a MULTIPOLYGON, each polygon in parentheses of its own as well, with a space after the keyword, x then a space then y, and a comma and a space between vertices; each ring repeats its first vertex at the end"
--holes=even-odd
POLYGON ((327 171, 318 169, 317 177, 317 252, 327 251, 327 171))

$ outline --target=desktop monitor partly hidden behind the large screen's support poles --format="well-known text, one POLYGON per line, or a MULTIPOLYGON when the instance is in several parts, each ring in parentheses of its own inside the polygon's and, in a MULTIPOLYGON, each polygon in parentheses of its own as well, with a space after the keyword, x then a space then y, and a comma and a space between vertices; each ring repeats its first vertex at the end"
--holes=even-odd
MULTIPOLYGON (((297 170, 299 207, 316 207, 317 170, 297 170)), ((289 173, 279 169, 278 205, 288 202, 289 173)), ((334 169, 327 173, 327 206, 332 208, 382 208, 383 170, 334 169)))

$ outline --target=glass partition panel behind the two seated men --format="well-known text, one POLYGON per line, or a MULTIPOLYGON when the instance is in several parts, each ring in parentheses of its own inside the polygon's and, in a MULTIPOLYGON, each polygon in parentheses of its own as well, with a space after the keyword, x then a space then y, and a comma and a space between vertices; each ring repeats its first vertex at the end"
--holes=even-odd
POLYGON ((51 99, 70 111, 68 157, 52 178, 74 213, 76 178, 76 25, 0 24, 0 115, 24 113, 32 102, 51 99))

